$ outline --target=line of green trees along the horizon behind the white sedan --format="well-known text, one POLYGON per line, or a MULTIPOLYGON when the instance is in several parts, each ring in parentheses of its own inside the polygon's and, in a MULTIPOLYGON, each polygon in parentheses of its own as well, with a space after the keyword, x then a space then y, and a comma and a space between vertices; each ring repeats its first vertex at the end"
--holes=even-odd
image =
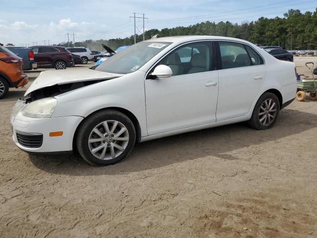
MULTIPOLYGON (((257 21, 241 24, 229 21, 201 22, 187 27, 151 29, 145 32, 145 39, 159 34, 159 37, 184 35, 213 35, 244 39, 262 46, 280 46, 286 50, 317 50, 317 8, 314 12, 290 9, 283 17, 260 17, 257 21)), ((137 42, 143 35, 137 36, 137 42)), ((89 47, 91 50, 102 51, 102 44, 115 50, 120 46, 133 45, 134 35, 124 39, 85 40, 76 42, 75 46, 89 47)), ((59 46, 67 46, 62 42, 59 46)))

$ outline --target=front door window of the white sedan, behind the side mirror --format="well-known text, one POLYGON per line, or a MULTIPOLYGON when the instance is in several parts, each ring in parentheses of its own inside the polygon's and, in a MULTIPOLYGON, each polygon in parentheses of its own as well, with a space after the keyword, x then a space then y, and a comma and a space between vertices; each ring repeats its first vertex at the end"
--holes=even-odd
POLYGON ((169 66, 173 76, 210 71, 211 42, 196 42, 179 47, 159 64, 169 66))

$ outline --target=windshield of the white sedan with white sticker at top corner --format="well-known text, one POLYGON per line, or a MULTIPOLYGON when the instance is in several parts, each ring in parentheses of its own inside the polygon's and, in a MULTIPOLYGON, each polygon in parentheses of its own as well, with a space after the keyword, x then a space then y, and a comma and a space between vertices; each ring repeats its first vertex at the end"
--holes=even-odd
POLYGON ((169 42, 140 42, 113 55, 98 65, 95 70, 118 74, 132 73, 170 44, 169 42))

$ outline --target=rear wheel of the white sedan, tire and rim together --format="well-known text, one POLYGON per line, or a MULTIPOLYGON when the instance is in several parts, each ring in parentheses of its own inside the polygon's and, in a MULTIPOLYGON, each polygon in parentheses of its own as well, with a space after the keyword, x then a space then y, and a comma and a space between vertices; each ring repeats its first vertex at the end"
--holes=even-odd
POLYGON ((266 92, 256 103, 248 124, 257 130, 271 128, 277 120, 279 110, 280 105, 276 95, 266 92))

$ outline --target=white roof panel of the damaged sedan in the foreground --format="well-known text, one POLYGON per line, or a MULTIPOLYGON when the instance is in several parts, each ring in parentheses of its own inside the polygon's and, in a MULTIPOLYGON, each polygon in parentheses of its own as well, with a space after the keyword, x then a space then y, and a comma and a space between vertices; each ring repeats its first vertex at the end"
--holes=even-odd
POLYGON ((222 36, 169 36, 169 37, 150 39, 144 42, 182 43, 182 42, 199 41, 199 40, 228 40, 228 41, 238 41, 238 42, 250 44, 250 42, 247 42, 241 39, 231 38, 231 37, 222 37, 222 36))

